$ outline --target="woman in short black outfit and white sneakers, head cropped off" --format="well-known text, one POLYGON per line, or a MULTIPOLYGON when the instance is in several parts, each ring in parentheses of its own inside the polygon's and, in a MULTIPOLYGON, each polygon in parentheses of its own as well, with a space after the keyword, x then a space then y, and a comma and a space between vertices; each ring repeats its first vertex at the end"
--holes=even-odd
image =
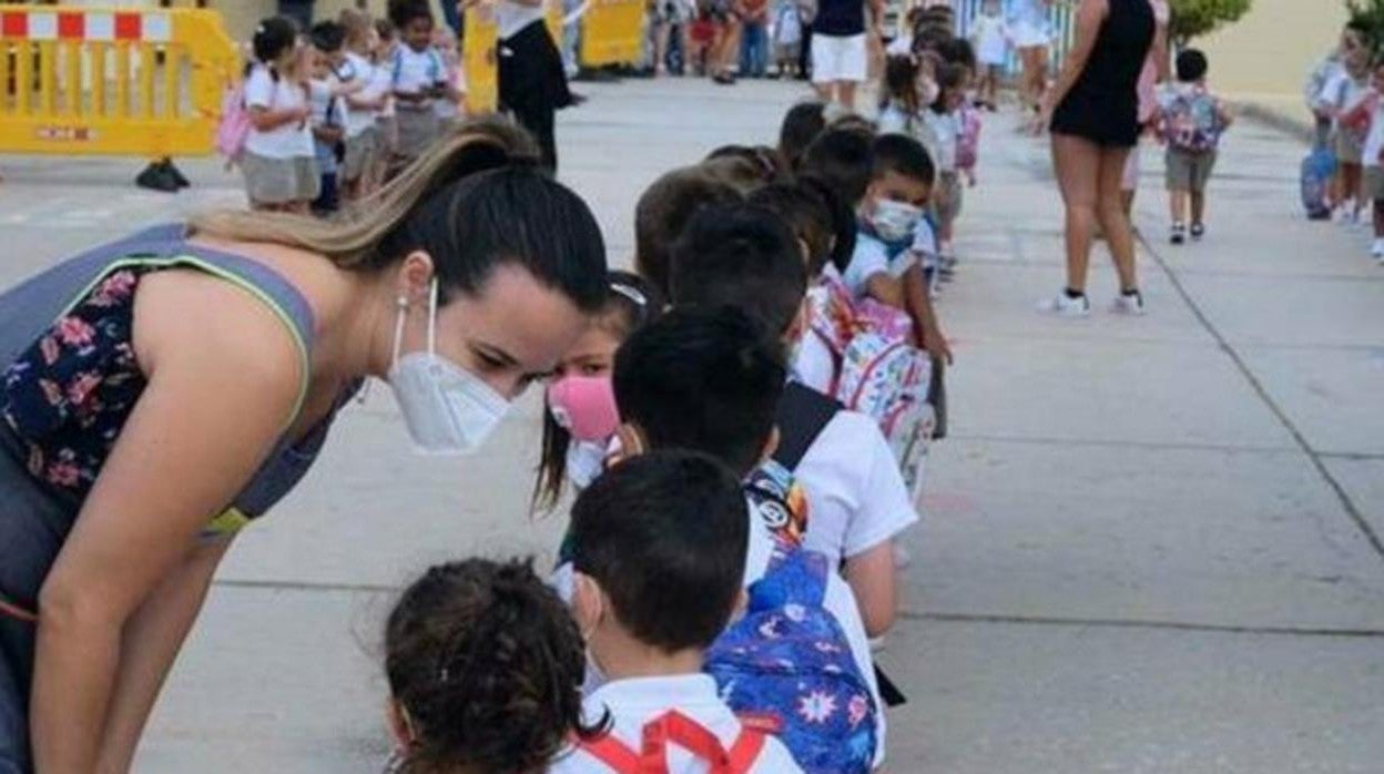
POLYGON ((1091 312, 1086 269, 1099 222, 1120 273, 1114 307, 1143 313, 1120 183, 1125 159, 1139 141, 1139 71, 1153 35, 1149 0, 1081 0, 1075 44, 1044 100, 1044 123, 1052 130, 1053 165, 1067 208, 1067 287, 1046 305, 1052 312, 1091 312))

